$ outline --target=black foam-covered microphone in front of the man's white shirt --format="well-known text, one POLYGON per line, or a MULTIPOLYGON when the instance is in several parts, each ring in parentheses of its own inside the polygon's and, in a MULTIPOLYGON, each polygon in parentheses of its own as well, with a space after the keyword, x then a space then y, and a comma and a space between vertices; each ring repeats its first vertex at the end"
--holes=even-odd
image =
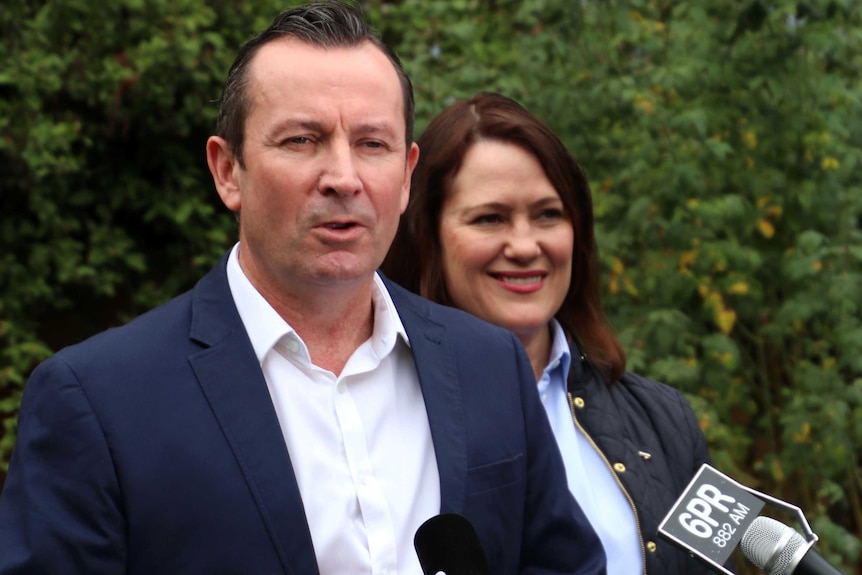
POLYGON ((413 546, 424 575, 491 575, 479 536, 463 515, 428 519, 416 530, 413 546))

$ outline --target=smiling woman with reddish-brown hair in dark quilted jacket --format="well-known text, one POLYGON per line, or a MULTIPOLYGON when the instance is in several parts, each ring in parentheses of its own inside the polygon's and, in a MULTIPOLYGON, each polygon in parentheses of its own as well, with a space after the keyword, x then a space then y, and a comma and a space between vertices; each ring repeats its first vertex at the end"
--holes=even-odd
POLYGON ((419 139, 383 271, 523 343, 609 575, 711 573, 657 529, 706 442, 676 390, 625 371, 602 311, 590 189, 541 121, 491 93, 456 103, 419 139))

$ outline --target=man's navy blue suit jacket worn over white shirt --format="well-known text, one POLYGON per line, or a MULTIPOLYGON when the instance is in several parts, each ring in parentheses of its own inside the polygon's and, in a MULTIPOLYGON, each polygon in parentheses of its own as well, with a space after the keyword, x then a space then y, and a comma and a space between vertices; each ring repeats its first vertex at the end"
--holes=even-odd
MULTIPOLYGON (((0 573, 318 573, 225 262, 33 372, 0 496, 0 573)), ((604 573, 517 340, 387 285, 425 399, 441 513, 470 519, 493 575, 604 573)))

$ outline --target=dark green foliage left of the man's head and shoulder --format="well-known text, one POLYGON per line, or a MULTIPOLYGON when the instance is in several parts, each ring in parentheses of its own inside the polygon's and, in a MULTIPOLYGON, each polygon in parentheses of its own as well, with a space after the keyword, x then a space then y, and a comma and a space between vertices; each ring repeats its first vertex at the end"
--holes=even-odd
POLYGON ((235 237, 206 167, 213 101, 258 3, 0 11, 0 462, 54 350, 191 286, 235 237))

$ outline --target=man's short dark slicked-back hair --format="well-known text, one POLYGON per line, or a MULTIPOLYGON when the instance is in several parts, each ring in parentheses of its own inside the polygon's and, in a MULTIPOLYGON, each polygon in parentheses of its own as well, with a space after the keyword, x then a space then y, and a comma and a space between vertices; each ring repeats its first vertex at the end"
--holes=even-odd
POLYGON ((249 112, 249 68, 258 50, 279 38, 296 38, 321 48, 354 48, 365 42, 379 48, 392 62, 401 82, 406 143, 407 149, 410 149, 413 142, 415 109, 413 85, 398 55, 375 35, 358 5, 337 0, 319 0, 279 14, 266 30, 243 44, 230 67, 219 101, 216 133, 228 143, 240 167, 245 168, 242 148, 245 121, 249 112))

